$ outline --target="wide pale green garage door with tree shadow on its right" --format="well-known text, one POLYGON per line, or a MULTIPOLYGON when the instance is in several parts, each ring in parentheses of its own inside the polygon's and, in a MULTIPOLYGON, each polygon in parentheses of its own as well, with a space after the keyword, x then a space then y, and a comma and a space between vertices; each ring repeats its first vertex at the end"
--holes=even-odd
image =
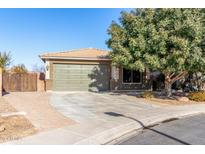
POLYGON ((53 90, 108 90, 108 73, 108 65, 54 64, 53 90))

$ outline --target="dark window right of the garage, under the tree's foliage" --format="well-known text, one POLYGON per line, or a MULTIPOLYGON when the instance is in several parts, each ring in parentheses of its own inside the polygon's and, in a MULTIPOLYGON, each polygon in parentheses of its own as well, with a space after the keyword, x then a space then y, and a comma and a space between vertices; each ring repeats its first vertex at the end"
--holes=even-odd
POLYGON ((123 68, 123 83, 140 83, 141 73, 140 71, 128 70, 123 68))

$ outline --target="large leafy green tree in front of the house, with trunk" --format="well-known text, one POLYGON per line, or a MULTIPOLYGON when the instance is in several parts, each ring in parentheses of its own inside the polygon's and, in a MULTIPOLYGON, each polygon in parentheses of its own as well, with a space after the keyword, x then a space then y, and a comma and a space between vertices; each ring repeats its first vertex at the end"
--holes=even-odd
POLYGON ((205 68, 204 13, 201 9, 135 9, 113 22, 107 41, 113 63, 165 75, 165 90, 189 72, 205 68))

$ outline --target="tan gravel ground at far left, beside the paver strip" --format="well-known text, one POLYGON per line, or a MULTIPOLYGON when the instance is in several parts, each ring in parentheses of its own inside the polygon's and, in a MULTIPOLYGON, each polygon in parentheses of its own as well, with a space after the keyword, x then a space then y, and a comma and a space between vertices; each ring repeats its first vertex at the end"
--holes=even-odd
MULTIPOLYGON (((0 114, 16 112, 8 102, 0 98, 0 114)), ((0 116, 0 143, 36 133, 35 127, 24 116, 0 116)))

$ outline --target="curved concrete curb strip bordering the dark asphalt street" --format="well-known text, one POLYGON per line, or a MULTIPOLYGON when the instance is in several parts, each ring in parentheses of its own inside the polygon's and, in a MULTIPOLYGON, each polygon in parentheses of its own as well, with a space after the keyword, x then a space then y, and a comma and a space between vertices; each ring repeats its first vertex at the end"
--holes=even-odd
MULTIPOLYGON (((147 119, 143 119, 141 120, 141 122, 143 123, 144 127, 149 127, 155 124, 159 124, 165 120, 169 120, 172 118, 184 118, 184 117, 189 117, 189 116, 193 116, 193 115, 198 115, 198 114, 203 114, 205 112, 198 112, 198 111, 190 111, 190 112, 182 112, 182 113, 178 113, 178 114, 164 114, 162 115, 162 117, 158 117, 158 118, 153 118, 153 116, 151 118, 147 118, 147 119)), ((117 143, 119 140, 121 140, 122 138, 124 138, 125 136, 130 136, 133 134, 133 132, 142 130, 143 126, 135 121, 128 123, 128 124, 123 124, 120 125, 118 127, 106 130, 104 132, 101 132, 99 134, 96 134, 94 136, 88 137, 86 139, 83 139, 77 143, 74 143, 75 145, 105 145, 105 144, 115 144, 117 143)))

